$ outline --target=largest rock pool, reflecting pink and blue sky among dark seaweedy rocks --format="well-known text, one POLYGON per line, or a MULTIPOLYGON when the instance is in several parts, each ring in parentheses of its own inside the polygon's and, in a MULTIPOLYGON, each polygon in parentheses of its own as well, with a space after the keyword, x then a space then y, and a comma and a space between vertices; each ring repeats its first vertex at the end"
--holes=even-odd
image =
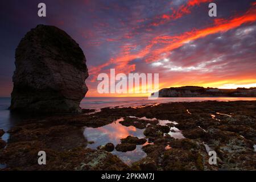
MULTIPOLYGON (((84 136, 88 141, 94 142, 92 144, 88 144, 88 147, 96 149, 98 146, 105 145, 109 142, 116 146, 118 143, 121 143, 120 139, 126 138, 129 135, 138 138, 145 137, 143 134, 144 129, 137 129, 134 126, 126 127, 121 125, 119 123, 120 121, 123 121, 123 118, 102 127, 86 127, 84 130, 84 136)), ((146 144, 148 143, 146 142, 144 145, 146 144)), ((142 145, 137 145, 134 151, 118 152, 114 150, 112 154, 117 155, 118 158, 123 160, 126 164, 131 164, 146 157, 146 153, 142 150, 142 145)))

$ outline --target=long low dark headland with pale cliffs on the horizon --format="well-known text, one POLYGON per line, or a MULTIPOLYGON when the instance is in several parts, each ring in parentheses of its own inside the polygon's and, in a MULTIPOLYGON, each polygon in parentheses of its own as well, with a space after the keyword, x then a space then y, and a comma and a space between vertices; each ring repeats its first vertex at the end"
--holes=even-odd
MULTIPOLYGON (((256 97, 256 88, 218 89, 203 86, 163 88, 159 97, 256 97)), ((153 93, 152 93, 153 94, 153 93)))

